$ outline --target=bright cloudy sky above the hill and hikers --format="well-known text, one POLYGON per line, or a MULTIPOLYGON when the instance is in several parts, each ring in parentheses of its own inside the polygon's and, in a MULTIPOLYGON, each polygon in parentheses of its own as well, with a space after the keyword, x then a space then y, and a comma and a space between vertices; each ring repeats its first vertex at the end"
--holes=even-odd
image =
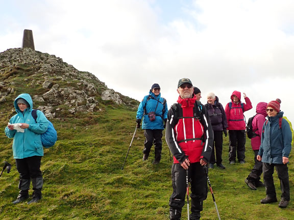
MULTIPOLYGON (((294 123, 292 0, 0 0, 0 52, 21 47, 55 54, 108 88, 139 101, 152 84, 168 105, 188 77, 224 106, 234 90, 256 104, 280 98, 294 123)), ((244 99, 242 98, 242 101, 244 99)))

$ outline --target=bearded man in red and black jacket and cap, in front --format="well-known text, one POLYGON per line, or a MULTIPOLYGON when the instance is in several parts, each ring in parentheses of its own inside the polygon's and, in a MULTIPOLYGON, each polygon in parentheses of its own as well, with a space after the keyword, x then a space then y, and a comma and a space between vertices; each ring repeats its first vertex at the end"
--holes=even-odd
POLYGON ((191 183, 190 219, 200 219, 203 201, 207 198, 207 178, 204 169, 212 151, 213 130, 206 108, 193 95, 192 82, 182 78, 178 83, 178 102, 167 115, 165 138, 174 155, 171 169, 173 194, 169 199, 170 219, 181 218, 186 195, 186 170, 191 183))

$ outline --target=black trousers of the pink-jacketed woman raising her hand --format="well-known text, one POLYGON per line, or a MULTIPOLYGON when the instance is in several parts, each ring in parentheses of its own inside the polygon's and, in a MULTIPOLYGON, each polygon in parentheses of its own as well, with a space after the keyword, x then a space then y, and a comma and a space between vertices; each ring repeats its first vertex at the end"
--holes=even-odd
POLYGON ((229 130, 229 160, 236 161, 236 151, 237 158, 239 161, 245 159, 245 143, 246 143, 246 131, 245 130, 229 130))

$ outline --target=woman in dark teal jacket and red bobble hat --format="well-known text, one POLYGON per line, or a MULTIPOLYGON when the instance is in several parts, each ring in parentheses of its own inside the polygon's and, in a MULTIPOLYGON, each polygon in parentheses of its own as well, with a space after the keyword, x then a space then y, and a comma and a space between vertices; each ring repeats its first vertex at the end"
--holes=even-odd
POLYGON ((290 185, 287 163, 291 151, 292 133, 289 123, 283 119, 280 112, 280 99, 271 101, 266 106, 268 120, 262 127, 261 145, 257 160, 262 161, 263 181, 266 187, 266 197, 263 204, 277 202, 274 185, 274 168, 281 184, 280 208, 286 208, 290 200, 290 185))

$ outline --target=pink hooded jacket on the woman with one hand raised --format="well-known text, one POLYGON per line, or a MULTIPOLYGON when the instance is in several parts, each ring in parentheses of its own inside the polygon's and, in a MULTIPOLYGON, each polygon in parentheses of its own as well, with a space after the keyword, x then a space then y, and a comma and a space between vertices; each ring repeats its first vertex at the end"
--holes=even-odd
POLYGON ((234 91, 231 95, 232 108, 230 109, 230 103, 226 105, 225 112, 228 121, 228 130, 245 130, 246 123, 244 121, 243 112, 246 112, 252 108, 251 101, 248 97, 245 98, 246 103, 241 107, 241 93, 234 91), (233 102, 233 95, 239 98, 238 103, 233 102))

